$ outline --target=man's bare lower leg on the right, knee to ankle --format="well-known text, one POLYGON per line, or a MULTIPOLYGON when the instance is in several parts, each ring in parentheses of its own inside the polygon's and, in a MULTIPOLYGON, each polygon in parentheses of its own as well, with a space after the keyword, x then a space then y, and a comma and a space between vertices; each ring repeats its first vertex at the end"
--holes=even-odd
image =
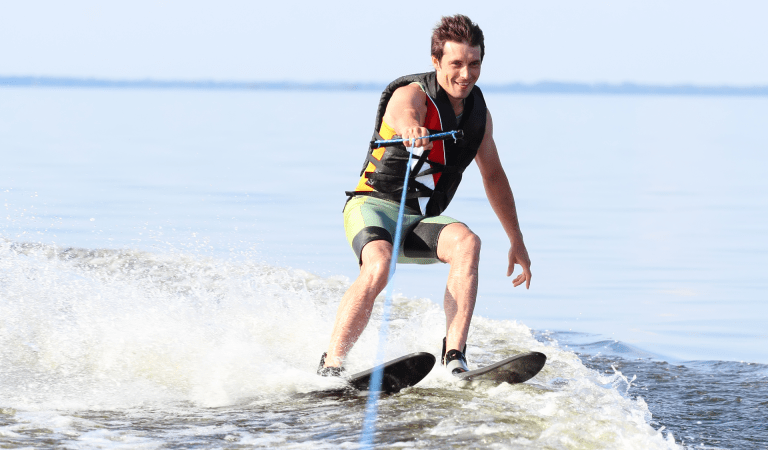
POLYGON ((446 351, 464 350, 477 299, 480 238, 462 223, 443 228, 437 257, 451 265, 445 289, 446 351))

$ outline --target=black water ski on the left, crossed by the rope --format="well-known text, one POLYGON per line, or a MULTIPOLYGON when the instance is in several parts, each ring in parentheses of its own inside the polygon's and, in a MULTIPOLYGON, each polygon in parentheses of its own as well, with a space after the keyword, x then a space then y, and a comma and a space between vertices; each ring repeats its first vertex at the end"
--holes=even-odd
POLYGON ((411 353, 351 375, 347 382, 359 391, 367 391, 373 371, 382 367, 384 374, 381 377, 381 391, 394 394, 423 380, 434 365, 435 357, 431 353, 411 353))

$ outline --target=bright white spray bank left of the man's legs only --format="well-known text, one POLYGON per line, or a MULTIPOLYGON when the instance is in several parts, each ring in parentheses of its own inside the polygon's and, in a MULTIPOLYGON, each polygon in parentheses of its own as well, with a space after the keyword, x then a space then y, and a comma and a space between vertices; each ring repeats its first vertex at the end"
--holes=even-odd
POLYGON ((158 396, 214 406, 265 384, 300 389, 314 378, 302 375, 343 287, 184 255, 8 242, 2 252, 2 366, 10 373, 0 392, 24 407, 130 406, 158 396))

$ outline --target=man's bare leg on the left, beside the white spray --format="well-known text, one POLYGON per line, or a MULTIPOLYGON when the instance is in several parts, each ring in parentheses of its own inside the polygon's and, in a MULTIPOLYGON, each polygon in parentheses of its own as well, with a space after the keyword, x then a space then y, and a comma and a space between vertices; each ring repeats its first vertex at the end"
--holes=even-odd
POLYGON ((340 367, 371 318, 376 296, 387 286, 392 244, 372 241, 360 254, 360 275, 341 299, 328 345, 325 367, 340 367))

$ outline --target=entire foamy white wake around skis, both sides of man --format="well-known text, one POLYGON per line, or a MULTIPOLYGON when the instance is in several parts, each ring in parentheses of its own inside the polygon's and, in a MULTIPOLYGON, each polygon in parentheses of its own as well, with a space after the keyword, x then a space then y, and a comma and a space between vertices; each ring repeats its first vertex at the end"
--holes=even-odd
MULTIPOLYGON (((354 447, 364 396, 325 396, 339 381, 314 374, 347 286, 247 258, 0 241, 0 442, 354 447)), ((373 363, 380 312, 350 371, 373 363)), ((433 302, 396 297, 387 357, 438 352, 443 327, 433 302)), ((476 317, 469 342, 470 365, 530 350, 547 365, 515 386, 456 383, 436 368, 382 399, 377 442, 676 447, 621 372, 588 369, 511 321, 476 317)))

